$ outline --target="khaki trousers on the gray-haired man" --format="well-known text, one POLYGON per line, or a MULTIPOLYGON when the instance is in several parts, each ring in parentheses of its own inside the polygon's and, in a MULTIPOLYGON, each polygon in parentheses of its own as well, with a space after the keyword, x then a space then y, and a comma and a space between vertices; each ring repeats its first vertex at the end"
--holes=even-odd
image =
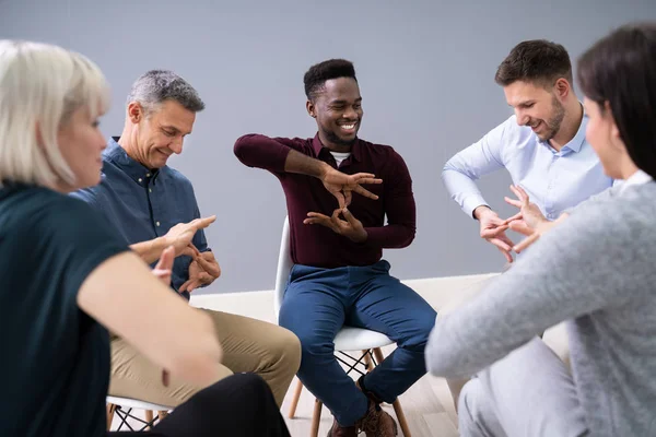
MULTIPOLYGON (((221 380, 237 373, 255 373, 271 388, 278 406, 301 365, 301 343, 291 331, 276 324, 227 312, 199 309, 214 321, 223 347, 216 363, 221 380)), ((215 382, 215 381, 214 381, 215 382)), ((171 376, 162 385, 162 368, 118 336, 112 338, 109 394, 177 406, 206 387, 171 376)))

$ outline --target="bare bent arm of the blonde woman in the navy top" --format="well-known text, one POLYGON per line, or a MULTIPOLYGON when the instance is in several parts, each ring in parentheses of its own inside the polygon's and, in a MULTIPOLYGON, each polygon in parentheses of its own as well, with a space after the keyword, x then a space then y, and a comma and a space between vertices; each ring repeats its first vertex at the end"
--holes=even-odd
POLYGON ((221 346, 211 319, 172 293, 134 255, 118 255, 93 270, 78 305, 174 377, 207 385, 218 376, 221 346))

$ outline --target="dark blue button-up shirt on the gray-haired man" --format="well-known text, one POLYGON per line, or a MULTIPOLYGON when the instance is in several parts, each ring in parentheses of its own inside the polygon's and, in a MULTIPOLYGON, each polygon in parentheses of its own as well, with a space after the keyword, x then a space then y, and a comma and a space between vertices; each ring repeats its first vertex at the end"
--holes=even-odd
MULTIPOLYGON (((129 245, 161 237, 176 224, 200 217, 189 179, 168 166, 144 167, 117 141, 110 139, 103 152, 101 184, 71 196, 101 211, 129 245)), ((202 229, 192 243, 201 252, 209 250, 202 229)), ((171 285, 176 291, 189 279, 190 262, 186 256, 175 259, 171 285)), ((183 296, 189 298, 187 292, 183 296)))

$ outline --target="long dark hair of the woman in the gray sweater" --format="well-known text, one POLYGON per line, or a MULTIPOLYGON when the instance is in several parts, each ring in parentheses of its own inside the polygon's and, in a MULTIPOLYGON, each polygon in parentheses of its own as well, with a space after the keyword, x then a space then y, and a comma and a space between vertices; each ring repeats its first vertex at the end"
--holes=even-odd
POLYGON ((656 22, 620 27, 579 59, 578 84, 606 102, 633 163, 656 178, 656 22))

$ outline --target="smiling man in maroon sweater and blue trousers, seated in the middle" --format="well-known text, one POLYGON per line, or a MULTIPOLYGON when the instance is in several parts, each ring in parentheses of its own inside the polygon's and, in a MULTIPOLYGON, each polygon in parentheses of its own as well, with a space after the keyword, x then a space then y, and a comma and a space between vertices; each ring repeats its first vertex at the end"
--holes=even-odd
POLYGON ((382 259, 383 249, 414 239, 412 179, 393 147, 358 138, 362 97, 351 62, 313 66, 304 82, 315 138, 248 134, 235 155, 282 184, 295 265, 279 322, 301 339, 298 378, 335 415, 329 436, 394 436, 397 425, 379 403, 394 402, 425 374, 436 316, 382 259), (333 355, 344 324, 383 332, 398 345, 358 386, 333 355))

